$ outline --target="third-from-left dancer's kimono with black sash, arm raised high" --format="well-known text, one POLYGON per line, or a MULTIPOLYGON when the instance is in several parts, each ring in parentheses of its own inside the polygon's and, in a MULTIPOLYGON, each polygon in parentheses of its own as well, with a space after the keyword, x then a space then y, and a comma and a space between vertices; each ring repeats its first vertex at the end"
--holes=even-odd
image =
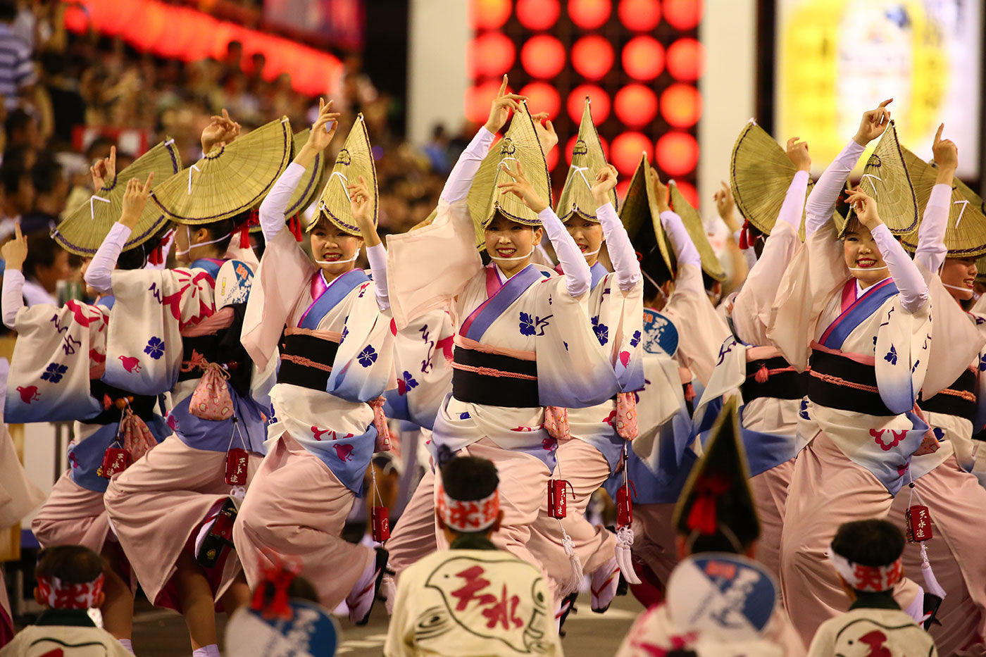
POLYGON ((260 261, 243 340, 256 363, 278 348, 280 366, 267 457, 233 537, 250 586, 270 565, 264 549, 296 555, 322 605, 334 609, 376 560, 374 549, 341 534, 375 445, 384 448, 381 396, 391 380, 394 331, 366 272, 350 269, 326 282, 284 225, 303 172, 292 164, 260 209, 265 233, 277 232, 260 261))

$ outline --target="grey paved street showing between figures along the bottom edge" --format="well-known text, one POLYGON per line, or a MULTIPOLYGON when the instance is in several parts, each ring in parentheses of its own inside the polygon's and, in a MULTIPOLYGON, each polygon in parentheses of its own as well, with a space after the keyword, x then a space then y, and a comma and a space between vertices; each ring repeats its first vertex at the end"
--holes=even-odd
MULTIPOLYGON (((630 624, 643 610, 632 596, 626 596, 617 598, 605 614, 593 614, 588 593, 579 598, 576 608, 578 613, 566 621, 566 636, 562 639, 567 657, 612 655, 630 624)), ((224 624, 225 617, 221 617, 220 627, 224 624)), ((335 654, 346 657, 380 657, 383 654, 387 639, 387 613, 383 605, 374 607, 373 617, 365 627, 354 627, 348 620, 341 620, 339 624, 342 626, 342 644, 335 654)), ((144 603, 138 607, 133 629, 133 647, 140 657, 191 654, 184 620, 174 612, 152 609, 144 603)))

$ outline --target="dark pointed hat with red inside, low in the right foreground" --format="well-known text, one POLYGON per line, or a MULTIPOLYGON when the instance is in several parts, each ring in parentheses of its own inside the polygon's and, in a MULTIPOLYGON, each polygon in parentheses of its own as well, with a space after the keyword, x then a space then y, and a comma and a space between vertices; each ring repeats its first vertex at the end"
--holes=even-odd
POLYGON ((696 525, 711 520, 717 531, 725 526, 737 537, 755 538, 760 533, 760 521, 749 487, 749 464, 735 395, 723 405, 702 451, 674 505, 671 523, 675 530, 685 536, 701 533, 696 525), (701 509, 693 511, 698 504, 701 509), (711 518, 706 517, 709 514, 711 518))

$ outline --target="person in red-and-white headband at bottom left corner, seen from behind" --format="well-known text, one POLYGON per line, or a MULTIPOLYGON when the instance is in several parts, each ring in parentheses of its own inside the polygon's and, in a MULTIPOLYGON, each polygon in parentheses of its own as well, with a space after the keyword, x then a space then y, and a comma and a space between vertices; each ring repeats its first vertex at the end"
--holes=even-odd
POLYGON ((61 655, 66 648, 79 650, 68 654, 130 657, 112 634, 89 618, 88 610, 98 608, 104 599, 99 554, 82 546, 42 549, 35 576, 35 600, 44 611, 0 650, 0 657, 61 655))

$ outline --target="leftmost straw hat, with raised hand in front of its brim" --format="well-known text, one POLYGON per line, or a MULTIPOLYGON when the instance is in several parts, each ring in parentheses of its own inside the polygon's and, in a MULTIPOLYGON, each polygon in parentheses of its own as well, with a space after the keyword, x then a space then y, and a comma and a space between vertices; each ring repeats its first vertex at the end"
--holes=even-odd
MULTIPOLYGON (((157 183, 152 188, 156 189, 180 170, 181 156, 175 141, 169 139, 155 145, 129 167, 118 172, 113 180, 107 181, 102 189, 90 197, 88 203, 67 216, 51 233, 51 237, 70 254, 83 257, 95 255, 109 229, 123 212, 123 194, 130 179, 147 182, 147 177, 153 172, 157 183)), ((130 233, 130 239, 123 246, 123 251, 144 244, 157 235, 169 221, 160 207, 148 202, 137 226, 130 233)))

